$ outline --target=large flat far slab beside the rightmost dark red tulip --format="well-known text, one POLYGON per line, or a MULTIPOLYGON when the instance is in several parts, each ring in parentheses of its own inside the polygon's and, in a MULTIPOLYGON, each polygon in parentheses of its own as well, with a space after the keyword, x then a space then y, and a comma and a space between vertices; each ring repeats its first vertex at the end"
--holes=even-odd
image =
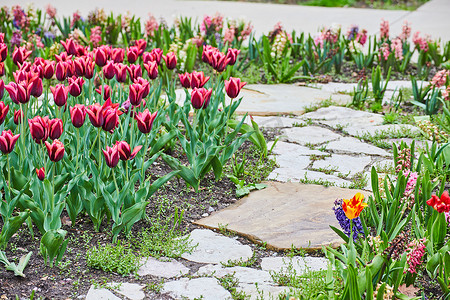
POLYGON ((254 115, 302 114, 305 107, 330 99, 346 104, 349 95, 333 94, 327 91, 292 84, 249 84, 239 94, 244 100, 238 112, 254 115))

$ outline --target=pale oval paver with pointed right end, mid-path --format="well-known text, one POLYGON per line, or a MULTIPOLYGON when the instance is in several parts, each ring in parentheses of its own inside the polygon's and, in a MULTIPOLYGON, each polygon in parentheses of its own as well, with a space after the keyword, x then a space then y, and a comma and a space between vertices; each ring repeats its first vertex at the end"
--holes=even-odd
POLYGON ((341 136, 329 129, 317 126, 294 127, 282 130, 281 140, 299 145, 323 144, 339 139, 341 136))

